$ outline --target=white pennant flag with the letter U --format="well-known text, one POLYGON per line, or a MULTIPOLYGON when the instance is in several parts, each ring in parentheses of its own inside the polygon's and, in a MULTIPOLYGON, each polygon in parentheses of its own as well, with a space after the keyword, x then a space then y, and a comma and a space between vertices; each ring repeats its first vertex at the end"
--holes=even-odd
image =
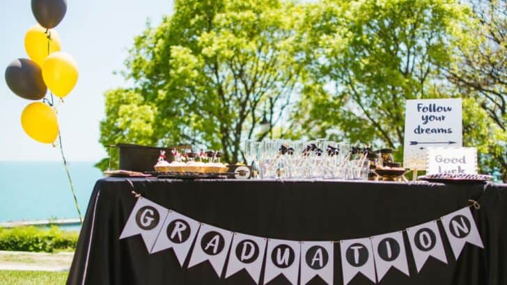
POLYGON ((290 284, 297 284, 300 252, 298 241, 267 240, 264 284, 278 275, 284 275, 290 284))

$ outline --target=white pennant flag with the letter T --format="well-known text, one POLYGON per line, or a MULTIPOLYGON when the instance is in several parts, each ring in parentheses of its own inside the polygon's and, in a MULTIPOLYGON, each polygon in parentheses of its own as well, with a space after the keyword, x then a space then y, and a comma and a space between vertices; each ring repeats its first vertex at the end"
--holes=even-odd
POLYGON ((359 272, 368 277, 371 282, 377 283, 370 238, 340 241, 340 251, 344 285, 347 285, 359 272))

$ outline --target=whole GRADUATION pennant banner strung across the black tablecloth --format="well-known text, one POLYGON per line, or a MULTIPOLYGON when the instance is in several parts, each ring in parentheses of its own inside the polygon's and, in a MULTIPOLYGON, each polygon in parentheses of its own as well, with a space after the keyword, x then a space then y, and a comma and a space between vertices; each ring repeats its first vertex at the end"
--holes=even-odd
MULTIPOLYGON (((469 206, 437 220, 442 220, 455 259, 460 257, 465 243, 484 248, 469 206)), ((437 220, 404 230, 417 272, 421 272, 429 257, 447 263, 437 220)), ((225 272, 225 278, 244 269, 256 284, 260 283, 263 268, 263 284, 279 275, 286 277, 290 284, 298 284, 298 276, 299 284, 306 284, 315 276, 334 284, 334 243, 338 242, 343 285, 359 272, 373 284, 382 281, 391 268, 409 276, 403 231, 344 241, 284 241, 203 224, 139 197, 120 239, 137 234, 143 238, 150 254, 172 249, 180 266, 188 256, 189 268, 209 261, 219 277, 225 272)))

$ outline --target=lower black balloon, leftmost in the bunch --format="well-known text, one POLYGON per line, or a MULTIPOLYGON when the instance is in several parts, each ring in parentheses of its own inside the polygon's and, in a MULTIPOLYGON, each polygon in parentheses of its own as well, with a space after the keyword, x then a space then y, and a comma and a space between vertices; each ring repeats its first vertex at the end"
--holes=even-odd
POLYGON ((42 70, 27 58, 18 58, 8 65, 6 83, 10 90, 24 99, 40 100, 47 92, 42 70))

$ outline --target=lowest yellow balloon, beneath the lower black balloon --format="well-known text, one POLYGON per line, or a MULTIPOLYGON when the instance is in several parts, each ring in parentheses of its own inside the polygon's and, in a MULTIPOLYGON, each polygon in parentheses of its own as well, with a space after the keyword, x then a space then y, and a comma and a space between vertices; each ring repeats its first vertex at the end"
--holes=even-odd
POLYGON ((41 102, 34 102, 24 108, 21 125, 24 132, 38 142, 52 143, 58 137, 56 113, 41 102))

